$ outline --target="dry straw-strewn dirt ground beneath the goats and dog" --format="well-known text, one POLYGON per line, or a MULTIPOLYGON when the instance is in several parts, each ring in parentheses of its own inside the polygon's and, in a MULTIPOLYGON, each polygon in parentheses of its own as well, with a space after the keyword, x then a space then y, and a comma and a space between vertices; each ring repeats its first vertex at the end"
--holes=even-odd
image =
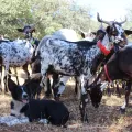
MULTIPOLYGON (((21 80, 20 80, 21 81, 21 80)), ((0 116, 10 114, 10 95, 0 95, 0 116)), ((24 123, 13 127, 0 124, 0 132, 132 132, 132 95, 130 106, 125 114, 119 111, 124 96, 103 96, 98 109, 89 102, 87 105, 88 123, 81 123, 79 113, 79 101, 74 92, 74 84, 68 82, 61 100, 67 106, 70 119, 68 128, 54 127, 42 123, 24 123)))

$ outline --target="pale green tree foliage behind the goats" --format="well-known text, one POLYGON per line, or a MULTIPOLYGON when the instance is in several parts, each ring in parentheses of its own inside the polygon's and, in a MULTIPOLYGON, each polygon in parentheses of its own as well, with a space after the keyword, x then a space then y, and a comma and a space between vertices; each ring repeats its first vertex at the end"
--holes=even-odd
POLYGON ((95 30, 89 7, 78 7, 68 0, 0 0, 0 34, 10 38, 21 35, 16 29, 34 24, 35 36, 42 38, 56 30, 95 30))

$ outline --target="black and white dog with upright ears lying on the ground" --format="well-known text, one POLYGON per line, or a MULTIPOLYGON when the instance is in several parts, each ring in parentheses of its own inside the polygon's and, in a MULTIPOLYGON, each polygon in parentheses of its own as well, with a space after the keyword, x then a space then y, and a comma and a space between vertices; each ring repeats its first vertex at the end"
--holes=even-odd
POLYGON ((10 103, 11 116, 20 117, 24 113, 30 122, 47 119, 52 124, 65 125, 69 118, 69 112, 64 103, 53 100, 29 100, 37 86, 40 86, 40 82, 35 84, 34 79, 26 81, 23 86, 18 86, 11 78, 8 78, 8 87, 13 98, 10 103), (26 102, 23 101, 25 99, 26 102))

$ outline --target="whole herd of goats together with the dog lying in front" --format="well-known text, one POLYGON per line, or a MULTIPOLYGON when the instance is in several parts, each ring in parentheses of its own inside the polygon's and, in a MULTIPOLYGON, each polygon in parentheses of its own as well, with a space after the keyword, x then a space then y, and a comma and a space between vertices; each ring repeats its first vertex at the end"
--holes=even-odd
POLYGON ((2 73, 4 66, 4 84, 13 99, 12 116, 19 117, 24 113, 30 122, 46 119, 52 124, 65 125, 69 112, 59 99, 70 77, 76 80, 75 89, 80 99, 82 121, 88 121, 88 96, 94 107, 99 107, 103 89, 108 86, 109 92, 113 80, 118 92, 117 80, 122 80, 122 87, 125 88, 125 101, 120 108, 121 112, 125 112, 132 85, 132 43, 128 42, 127 35, 132 34, 132 31, 123 30, 122 24, 127 20, 109 22, 100 19, 99 14, 97 20, 108 26, 101 26, 92 40, 82 34, 85 38, 79 41, 75 31, 62 29, 38 42, 32 36, 35 29, 26 25, 18 29, 25 34, 25 40, 0 41, 0 70, 2 73), (29 64, 32 69, 31 76, 28 72, 29 64), (28 74, 28 79, 22 86, 11 79, 10 67, 19 66, 28 74), (42 88, 45 96, 50 96, 53 90, 56 101, 38 99, 42 88))

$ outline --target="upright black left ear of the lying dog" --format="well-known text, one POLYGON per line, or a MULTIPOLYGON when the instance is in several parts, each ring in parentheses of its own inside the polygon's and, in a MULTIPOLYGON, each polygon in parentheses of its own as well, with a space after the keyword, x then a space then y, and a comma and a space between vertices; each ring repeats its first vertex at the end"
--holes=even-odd
POLYGON ((7 77, 4 77, 4 82, 8 82, 8 88, 11 92, 18 87, 18 85, 11 78, 8 78, 7 81, 7 77))

